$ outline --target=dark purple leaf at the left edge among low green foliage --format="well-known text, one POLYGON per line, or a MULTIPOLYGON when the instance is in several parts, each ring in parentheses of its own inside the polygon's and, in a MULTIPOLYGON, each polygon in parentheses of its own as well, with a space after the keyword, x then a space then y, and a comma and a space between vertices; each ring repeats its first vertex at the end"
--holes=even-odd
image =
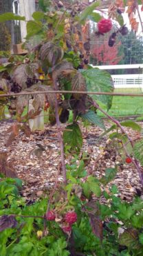
POLYGON ((6 228, 15 228, 17 220, 13 215, 3 215, 0 217, 0 232, 6 228))

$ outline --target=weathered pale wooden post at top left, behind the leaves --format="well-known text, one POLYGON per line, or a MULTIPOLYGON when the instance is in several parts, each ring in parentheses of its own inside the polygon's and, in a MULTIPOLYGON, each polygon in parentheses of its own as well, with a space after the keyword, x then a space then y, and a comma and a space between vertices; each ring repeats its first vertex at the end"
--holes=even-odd
POLYGON ((25 21, 21 21, 21 41, 25 41, 27 35, 26 21, 32 19, 35 12, 35 0, 19 0, 19 11, 21 16, 25 16, 25 21))

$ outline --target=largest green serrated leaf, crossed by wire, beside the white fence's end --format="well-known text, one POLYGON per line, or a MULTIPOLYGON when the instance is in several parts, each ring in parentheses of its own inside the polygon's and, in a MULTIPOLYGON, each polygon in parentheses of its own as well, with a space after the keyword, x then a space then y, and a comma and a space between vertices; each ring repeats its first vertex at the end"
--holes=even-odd
MULTIPOLYGON (((91 68, 87 70, 80 70, 80 72, 85 76, 87 83, 87 91, 93 92, 113 92, 113 80, 111 75, 107 71, 102 71, 98 68, 91 68)), ((109 110, 112 104, 111 95, 90 95, 94 100, 99 100, 104 105, 107 106, 109 110)))

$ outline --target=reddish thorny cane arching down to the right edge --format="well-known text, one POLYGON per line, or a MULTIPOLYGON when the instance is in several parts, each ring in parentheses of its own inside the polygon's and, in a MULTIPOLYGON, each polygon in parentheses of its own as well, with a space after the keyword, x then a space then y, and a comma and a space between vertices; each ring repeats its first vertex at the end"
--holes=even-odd
MULTIPOLYGON (((120 127, 121 131, 123 134, 126 134, 126 131, 124 130, 124 128, 122 127, 122 125, 120 125, 120 122, 118 120, 116 120, 115 118, 113 118, 112 116, 109 116, 109 114, 102 110, 99 105, 95 102, 95 101, 92 101, 92 104, 94 105, 94 107, 96 107, 98 110, 100 110, 102 113, 104 113, 105 116, 107 116, 107 118, 109 118, 111 121, 113 121, 115 123, 115 125, 117 125, 118 127, 120 127)), ((128 134, 126 134, 126 137, 128 138, 129 142, 131 143, 131 147, 133 147, 133 141, 132 139, 130 138, 130 136, 128 134)), ((127 152, 126 150, 126 147, 124 146, 124 144, 122 143, 122 146, 124 147, 124 151, 126 152, 126 156, 130 157, 129 153, 127 152)), ((137 170, 139 176, 140 176, 140 182, 143 186, 143 176, 142 176, 142 171, 140 170, 140 166, 138 165, 137 163, 137 160, 133 160, 132 159, 132 163, 133 165, 135 166, 135 169, 137 170)))

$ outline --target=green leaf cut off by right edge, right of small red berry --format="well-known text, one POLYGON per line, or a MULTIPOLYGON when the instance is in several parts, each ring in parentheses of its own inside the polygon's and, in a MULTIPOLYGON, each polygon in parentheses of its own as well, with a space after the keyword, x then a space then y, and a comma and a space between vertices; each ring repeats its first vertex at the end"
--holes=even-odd
POLYGON ((135 143, 133 146, 133 154, 135 158, 140 161, 140 164, 143 165, 143 139, 135 143))

